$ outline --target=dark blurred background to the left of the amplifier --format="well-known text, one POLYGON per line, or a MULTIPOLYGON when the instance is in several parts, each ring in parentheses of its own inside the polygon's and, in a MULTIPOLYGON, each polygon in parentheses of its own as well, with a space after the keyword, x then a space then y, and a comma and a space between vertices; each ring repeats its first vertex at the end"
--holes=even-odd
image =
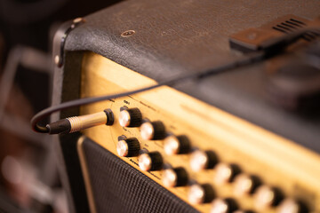
POLYGON ((68 212, 51 138, 29 121, 51 103, 60 24, 116 2, 0 0, 0 212, 68 212))

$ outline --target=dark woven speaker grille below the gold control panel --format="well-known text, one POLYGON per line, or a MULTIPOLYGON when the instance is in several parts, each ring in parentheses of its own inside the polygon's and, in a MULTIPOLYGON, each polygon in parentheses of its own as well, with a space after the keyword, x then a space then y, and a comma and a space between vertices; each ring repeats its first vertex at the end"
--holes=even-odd
POLYGON ((83 147, 97 212, 197 212, 92 140, 83 147))

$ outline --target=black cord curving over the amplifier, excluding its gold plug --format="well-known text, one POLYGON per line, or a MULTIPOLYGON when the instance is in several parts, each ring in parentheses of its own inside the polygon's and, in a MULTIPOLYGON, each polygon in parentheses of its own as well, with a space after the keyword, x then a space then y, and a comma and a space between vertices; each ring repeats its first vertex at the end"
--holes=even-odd
POLYGON ((318 30, 319 30, 318 27, 302 28, 300 30, 292 32, 291 34, 287 34, 284 36, 279 36, 279 37, 269 39, 265 42, 260 43, 259 51, 253 51, 251 53, 245 54, 244 56, 240 57, 239 59, 233 60, 231 62, 228 62, 228 63, 221 65, 221 66, 218 66, 218 67, 214 67, 210 70, 205 70, 204 72, 178 76, 178 77, 163 81, 161 83, 157 83, 156 85, 144 87, 144 88, 141 88, 141 89, 138 89, 135 91, 126 91, 126 92, 122 92, 122 93, 118 93, 118 94, 100 96, 100 97, 76 99, 76 100, 71 100, 71 101, 62 103, 57 106, 50 106, 50 107, 44 109, 43 111, 37 113, 32 118, 32 120, 31 120, 32 129, 37 132, 48 133, 49 130, 44 126, 40 126, 38 124, 38 122, 42 121, 45 117, 49 116, 50 114, 52 114, 54 112, 61 111, 63 109, 67 109, 67 108, 75 107, 75 106, 84 106, 84 105, 92 104, 92 103, 99 102, 102 100, 107 100, 107 99, 121 98, 124 96, 129 96, 129 95, 140 93, 143 91, 149 91, 152 89, 156 89, 157 87, 164 86, 164 85, 172 86, 173 84, 179 83, 180 81, 183 81, 183 80, 193 79, 193 78, 201 78, 201 77, 204 77, 207 75, 215 75, 215 74, 219 74, 224 71, 234 69, 236 67, 244 67, 246 65, 251 65, 251 64, 258 62, 262 59, 267 59, 267 58, 270 58, 270 57, 278 54, 286 46, 288 46, 291 43, 296 42, 301 36, 303 36, 305 33, 309 32, 309 31, 314 31, 314 32, 316 31, 316 34, 319 35, 318 30))

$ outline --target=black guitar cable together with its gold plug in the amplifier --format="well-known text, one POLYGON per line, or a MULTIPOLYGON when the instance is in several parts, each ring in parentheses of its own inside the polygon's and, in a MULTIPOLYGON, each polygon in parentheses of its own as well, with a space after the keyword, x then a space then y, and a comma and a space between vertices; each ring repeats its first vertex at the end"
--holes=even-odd
POLYGON ((108 110, 105 110, 103 112, 96 113, 96 114, 86 114, 82 116, 65 118, 57 122, 49 123, 45 126, 40 125, 38 122, 41 122, 42 120, 44 120, 44 118, 50 116, 55 112, 59 112, 67 108, 84 106, 84 105, 92 104, 95 102, 100 102, 103 100, 130 96, 140 92, 150 91, 164 85, 172 86, 174 84, 180 83, 188 79, 200 79, 208 75, 217 75, 222 72, 230 71, 238 67, 252 65, 263 59, 269 59, 279 54, 284 50, 285 47, 287 47, 291 43, 296 42, 298 39, 300 39, 301 36, 303 36, 305 33, 311 30, 317 31, 319 30, 319 28, 303 28, 291 34, 269 39, 265 42, 260 43, 260 46, 257 51, 252 51, 250 53, 244 54, 239 59, 233 60, 231 62, 214 67, 209 70, 204 70, 203 72, 193 73, 188 75, 180 75, 168 80, 164 80, 155 85, 143 87, 133 91, 125 91, 121 93, 116 93, 116 94, 106 95, 106 96, 99 96, 99 97, 75 99, 75 100, 61 103, 60 105, 50 106, 40 111, 39 113, 37 113, 31 119, 31 127, 33 130, 39 133, 59 134, 59 133, 71 133, 78 130, 84 130, 100 124, 110 125, 113 123, 113 115, 108 110))

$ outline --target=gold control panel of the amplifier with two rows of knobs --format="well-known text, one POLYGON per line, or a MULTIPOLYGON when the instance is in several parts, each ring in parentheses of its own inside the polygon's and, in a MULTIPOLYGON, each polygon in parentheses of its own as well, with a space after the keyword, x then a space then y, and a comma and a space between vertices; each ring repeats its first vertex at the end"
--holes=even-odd
MULTIPOLYGON (((82 72, 82 98, 156 83, 92 52, 82 72)), ((167 86, 81 114, 106 108, 84 135, 201 212, 320 212, 320 156, 288 139, 167 86)))

